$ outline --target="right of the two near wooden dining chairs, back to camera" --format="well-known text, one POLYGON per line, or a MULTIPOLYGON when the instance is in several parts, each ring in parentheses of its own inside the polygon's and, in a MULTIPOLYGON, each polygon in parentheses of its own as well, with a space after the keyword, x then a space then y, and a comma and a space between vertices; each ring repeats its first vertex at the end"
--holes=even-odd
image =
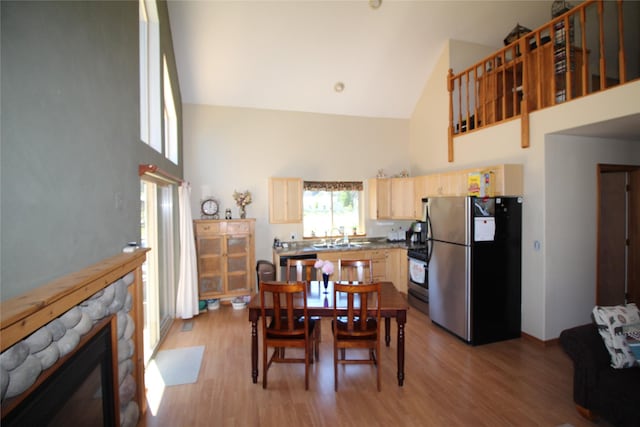
POLYGON ((380 391, 380 283, 334 283, 333 285, 333 377, 338 391, 339 364, 376 365, 377 385, 380 391), (340 301, 346 299, 346 307, 340 301), (347 315, 338 314, 338 309, 347 315), (373 310, 373 314, 371 311, 373 310), (345 349, 368 349, 367 359, 347 359, 345 349), (338 357, 338 349, 342 357, 338 357))

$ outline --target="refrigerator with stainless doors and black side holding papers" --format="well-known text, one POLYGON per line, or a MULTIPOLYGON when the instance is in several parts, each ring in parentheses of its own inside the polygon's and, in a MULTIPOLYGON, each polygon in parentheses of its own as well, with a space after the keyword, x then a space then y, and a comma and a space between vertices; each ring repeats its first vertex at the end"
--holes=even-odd
POLYGON ((522 198, 428 199, 429 317, 473 345, 520 337, 522 198))

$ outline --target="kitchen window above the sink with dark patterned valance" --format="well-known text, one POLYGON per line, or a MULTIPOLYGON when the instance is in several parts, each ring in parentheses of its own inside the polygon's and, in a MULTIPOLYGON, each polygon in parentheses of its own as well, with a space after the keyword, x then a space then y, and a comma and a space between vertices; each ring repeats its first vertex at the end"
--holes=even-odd
POLYGON ((305 181, 304 237, 365 234, 362 182, 305 181))

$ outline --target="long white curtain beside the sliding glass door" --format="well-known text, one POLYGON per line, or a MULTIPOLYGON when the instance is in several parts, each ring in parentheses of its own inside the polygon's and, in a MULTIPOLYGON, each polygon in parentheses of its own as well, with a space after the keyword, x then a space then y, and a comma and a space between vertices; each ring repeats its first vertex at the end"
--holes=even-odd
POLYGON ((191 220, 191 184, 183 182, 178 188, 180 210, 180 277, 176 298, 176 316, 190 319, 198 310, 198 269, 191 220))

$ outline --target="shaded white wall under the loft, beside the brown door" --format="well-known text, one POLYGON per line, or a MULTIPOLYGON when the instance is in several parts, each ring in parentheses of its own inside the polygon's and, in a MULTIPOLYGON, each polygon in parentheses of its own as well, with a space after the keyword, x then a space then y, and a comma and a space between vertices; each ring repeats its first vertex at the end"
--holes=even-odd
POLYGON ((588 323, 595 304, 597 166, 640 164, 640 141, 549 135, 545 147, 545 332, 554 337, 588 323))

